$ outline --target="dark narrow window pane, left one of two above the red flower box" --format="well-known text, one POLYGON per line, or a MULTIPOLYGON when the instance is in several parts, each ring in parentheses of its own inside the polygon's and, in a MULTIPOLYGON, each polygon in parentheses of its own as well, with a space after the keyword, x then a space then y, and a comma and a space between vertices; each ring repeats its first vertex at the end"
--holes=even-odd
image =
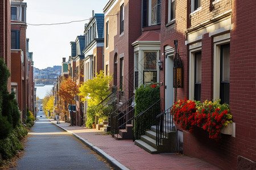
POLYGON ((201 100, 201 52, 195 53, 195 91, 194 98, 201 100))

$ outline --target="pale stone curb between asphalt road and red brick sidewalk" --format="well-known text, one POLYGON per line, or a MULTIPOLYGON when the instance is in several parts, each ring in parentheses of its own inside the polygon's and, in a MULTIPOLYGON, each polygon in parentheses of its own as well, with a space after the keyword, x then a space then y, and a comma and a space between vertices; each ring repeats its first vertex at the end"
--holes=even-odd
MULTIPOLYGON (((50 121, 50 120, 49 120, 50 121)), ((88 146, 91 150, 93 150, 94 152, 96 152, 98 155, 102 156, 103 158, 105 158, 108 163, 110 163, 114 169, 122 169, 122 170, 128 170, 129 168, 125 167, 125 165, 119 163, 116 159, 112 158, 111 156, 109 156, 108 154, 106 154, 106 152, 102 151, 100 148, 98 148, 97 146, 94 146, 92 143, 86 141, 84 138, 81 138, 79 135, 73 133, 70 130, 67 130, 55 123, 53 123, 52 121, 50 121, 53 125, 56 125, 57 127, 59 127, 60 129, 63 129, 65 131, 67 131, 68 133, 71 133, 72 135, 74 135, 77 139, 79 139, 82 143, 84 143, 86 146, 88 146)))

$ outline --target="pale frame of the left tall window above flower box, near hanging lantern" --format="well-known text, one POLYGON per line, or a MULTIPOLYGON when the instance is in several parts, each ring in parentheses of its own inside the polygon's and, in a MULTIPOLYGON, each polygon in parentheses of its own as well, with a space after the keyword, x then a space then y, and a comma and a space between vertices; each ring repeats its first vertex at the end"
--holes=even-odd
POLYGON ((189 45, 189 100, 195 97, 195 53, 202 50, 202 42, 189 45))

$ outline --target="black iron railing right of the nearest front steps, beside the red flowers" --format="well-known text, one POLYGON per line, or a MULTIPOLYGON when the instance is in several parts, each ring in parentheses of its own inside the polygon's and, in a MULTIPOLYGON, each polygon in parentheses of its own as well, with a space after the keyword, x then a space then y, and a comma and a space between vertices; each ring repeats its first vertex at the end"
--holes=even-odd
POLYGON ((156 146, 160 145, 161 139, 167 137, 168 132, 175 130, 171 109, 172 107, 156 116, 156 146))

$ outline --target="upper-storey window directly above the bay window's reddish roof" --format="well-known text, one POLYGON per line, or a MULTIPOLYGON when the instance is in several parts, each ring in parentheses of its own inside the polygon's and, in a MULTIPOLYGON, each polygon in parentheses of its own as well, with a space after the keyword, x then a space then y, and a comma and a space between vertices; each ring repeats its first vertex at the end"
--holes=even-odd
POLYGON ((142 20, 143 27, 161 23, 161 0, 143 0, 142 20))

